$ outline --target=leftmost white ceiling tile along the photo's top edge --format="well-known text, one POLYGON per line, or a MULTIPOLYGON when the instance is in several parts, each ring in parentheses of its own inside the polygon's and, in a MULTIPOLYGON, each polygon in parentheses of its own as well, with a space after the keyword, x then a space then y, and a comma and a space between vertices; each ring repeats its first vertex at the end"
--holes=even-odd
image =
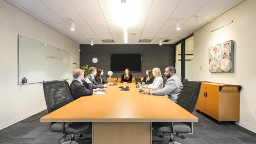
POLYGON ((40 0, 12 0, 16 4, 25 8, 31 13, 53 13, 51 9, 45 6, 40 0))

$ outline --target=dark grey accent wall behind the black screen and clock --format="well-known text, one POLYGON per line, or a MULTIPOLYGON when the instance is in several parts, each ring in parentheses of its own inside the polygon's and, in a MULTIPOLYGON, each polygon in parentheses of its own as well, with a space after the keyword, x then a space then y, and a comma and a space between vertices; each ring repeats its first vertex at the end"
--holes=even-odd
MULTIPOLYGON (((142 53, 142 72, 132 72, 132 77, 144 77, 148 68, 160 68, 164 79, 164 69, 167 66, 175 66, 175 49, 173 44, 80 44, 80 66, 88 64, 104 70, 104 79, 110 71, 110 54, 142 53), (94 64, 92 59, 96 57, 98 62, 94 64)), ((112 77, 120 77, 122 72, 114 72, 112 77)))

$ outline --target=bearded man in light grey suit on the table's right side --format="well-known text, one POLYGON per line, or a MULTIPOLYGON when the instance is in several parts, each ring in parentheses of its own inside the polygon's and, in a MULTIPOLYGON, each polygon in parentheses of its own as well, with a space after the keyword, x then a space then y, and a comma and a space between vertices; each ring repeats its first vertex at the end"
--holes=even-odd
POLYGON ((176 75, 176 68, 169 66, 165 68, 164 77, 167 79, 164 88, 160 90, 146 90, 145 94, 167 96, 170 100, 176 102, 180 92, 183 88, 183 84, 179 76, 176 75))

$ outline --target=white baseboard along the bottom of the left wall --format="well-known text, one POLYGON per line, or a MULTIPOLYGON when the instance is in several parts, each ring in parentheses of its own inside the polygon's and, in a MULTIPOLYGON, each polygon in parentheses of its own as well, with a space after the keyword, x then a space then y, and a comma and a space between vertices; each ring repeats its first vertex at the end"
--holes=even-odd
POLYGON ((15 124, 15 123, 17 123, 17 122, 19 122, 21 120, 24 120, 24 119, 28 118, 29 116, 33 116, 33 115, 37 114, 38 112, 42 112, 45 109, 47 109, 47 108, 46 107, 39 108, 39 109, 36 109, 35 111, 29 112, 27 114, 24 114, 23 116, 19 116, 19 117, 13 119, 13 120, 9 120, 8 122, 5 122, 4 124, 0 124, 0 130, 4 129, 4 128, 12 125, 12 124, 15 124))

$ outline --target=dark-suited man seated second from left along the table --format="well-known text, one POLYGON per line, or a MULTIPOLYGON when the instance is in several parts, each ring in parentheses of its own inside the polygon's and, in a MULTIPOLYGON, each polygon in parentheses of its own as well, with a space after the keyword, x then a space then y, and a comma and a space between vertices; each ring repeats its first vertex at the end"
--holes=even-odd
MULTIPOLYGON (((92 82, 92 88, 97 89, 97 88, 107 88, 108 84, 99 84, 96 82, 94 76, 97 75, 97 68, 91 67, 89 68, 89 74, 86 76, 91 82, 92 82)), ((83 84, 86 85, 86 81, 83 81, 83 84)))

